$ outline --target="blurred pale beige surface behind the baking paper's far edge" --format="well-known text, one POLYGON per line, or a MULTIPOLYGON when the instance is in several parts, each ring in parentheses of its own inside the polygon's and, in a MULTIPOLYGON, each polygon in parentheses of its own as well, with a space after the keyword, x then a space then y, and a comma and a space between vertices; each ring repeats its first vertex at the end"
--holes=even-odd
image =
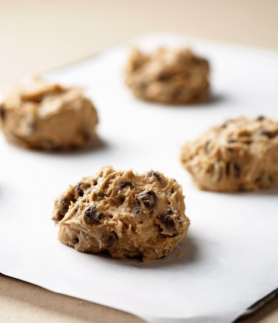
POLYGON ((0 87, 149 31, 278 49, 277 0, 0 0, 0 87))

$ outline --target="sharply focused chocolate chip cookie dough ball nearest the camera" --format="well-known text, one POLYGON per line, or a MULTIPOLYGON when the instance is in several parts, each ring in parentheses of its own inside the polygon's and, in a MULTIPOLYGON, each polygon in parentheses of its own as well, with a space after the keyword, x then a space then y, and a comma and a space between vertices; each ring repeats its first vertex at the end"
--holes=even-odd
POLYGON ((113 258, 168 255, 186 236, 182 187, 158 172, 104 167, 70 186, 56 201, 58 238, 78 251, 113 258))

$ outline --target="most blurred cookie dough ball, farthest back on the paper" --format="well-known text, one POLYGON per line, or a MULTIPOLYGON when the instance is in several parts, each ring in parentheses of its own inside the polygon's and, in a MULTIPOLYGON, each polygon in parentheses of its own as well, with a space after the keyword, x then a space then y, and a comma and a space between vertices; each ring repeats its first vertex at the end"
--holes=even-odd
POLYGON ((160 48, 151 54, 132 49, 126 84, 147 101, 183 104, 208 99, 209 64, 189 49, 160 48))

